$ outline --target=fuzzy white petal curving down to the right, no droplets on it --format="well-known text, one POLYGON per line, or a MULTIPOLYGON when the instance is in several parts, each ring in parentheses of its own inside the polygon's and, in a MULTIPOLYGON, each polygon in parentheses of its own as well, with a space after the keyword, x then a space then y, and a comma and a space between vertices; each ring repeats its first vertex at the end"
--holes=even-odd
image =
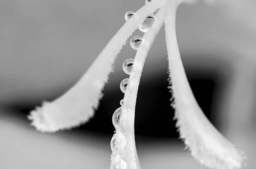
POLYGON ((203 165, 215 169, 239 169, 244 154, 224 138, 209 122, 189 86, 180 58, 175 31, 177 1, 168 0, 166 6, 166 44, 169 59, 169 78, 175 98, 175 118, 183 139, 192 156, 203 165))

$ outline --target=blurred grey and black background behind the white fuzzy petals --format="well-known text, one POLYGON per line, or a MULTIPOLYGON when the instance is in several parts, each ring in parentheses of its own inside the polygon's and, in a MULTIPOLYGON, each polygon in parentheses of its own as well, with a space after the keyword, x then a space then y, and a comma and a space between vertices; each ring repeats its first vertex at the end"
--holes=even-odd
MULTIPOLYGON (((116 59, 99 109, 78 129, 36 132, 26 119, 43 100, 69 89, 144 0, 0 0, 0 169, 108 169, 112 114, 134 58, 129 43, 116 59)), ((182 5, 177 38, 192 90, 204 113, 256 166, 256 3, 182 5)), ((134 35, 143 34, 135 31, 134 35)), ((145 62, 135 132, 143 169, 203 169, 178 140, 167 86, 164 30, 145 62)))

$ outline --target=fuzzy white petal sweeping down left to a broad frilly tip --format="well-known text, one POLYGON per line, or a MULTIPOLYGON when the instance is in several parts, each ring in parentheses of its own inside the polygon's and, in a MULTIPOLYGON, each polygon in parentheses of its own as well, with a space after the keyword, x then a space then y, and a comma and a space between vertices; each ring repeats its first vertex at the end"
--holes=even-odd
POLYGON ((165 0, 148 3, 116 33, 84 76, 67 93, 52 103, 44 102, 28 116, 42 132, 76 127, 93 116, 102 97, 102 89, 113 71, 113 62, 128 37, 145 18, 165 4, 165 0))

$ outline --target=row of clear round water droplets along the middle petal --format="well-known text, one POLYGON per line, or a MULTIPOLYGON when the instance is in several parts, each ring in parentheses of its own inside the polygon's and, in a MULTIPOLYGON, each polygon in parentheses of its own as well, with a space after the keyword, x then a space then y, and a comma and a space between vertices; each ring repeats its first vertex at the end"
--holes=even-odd
MULTIPOLYGON (((145 3, 149 3, 152 0, 145 0, 145 3)), ((131 17, 135 16, 136 17, 136 13, 133 11, 128 11, 125 13, 125 21, 128 21, 131 17)), ((138 29, 142 32, 146 32, 148 31, 149 28, 151 28, 151 25, 154 23, 155 20, 155 16, 154 14, 150 14, 145 20, 144 22, 138 27, 138 29)), ((143 38, 140 36, 135 36, 131 38, 130 41, 130 45, 131 48, 136 50, 140 47, 140 44, 143 42, 143 38)), ((124 72, 128 75, 131 74, 131 70, 134 64, 134 59, 127 59, 125 60, 125 62, 122 64, 122 69, 124 70, 124 72)), ((120 83, 120 89, 123 93, 125 93, 125 90, 127 88, 128 85, 128 79, 123 79, 122 82, 120 83)), ((116 109, 116 111, 113 113, 113 117, 112 117, 112 122, 113 122, 113 126, 117 127, 119 126, 119 120, 120 117, 122 115, 122 106, 124 105, 125 100, 122 99, 120 101, 120 105, 121 107, 119 107, 118 109, 116 109)), ((119 151, 119 149, 122 149, 125 145, 125 135, 123 133, 117 133, 115 135, 113 135, 112 139, 111 139, 111 150, 113 152, 116 152, 116 154, 118 154, 117 152, 119 151)), ((126 169, 127 168, 127 164, 125 163, 124 160, 122 160, 122 158, 120 156, 117 155, 114 164, 112 165, 113 169, 126 169)))

